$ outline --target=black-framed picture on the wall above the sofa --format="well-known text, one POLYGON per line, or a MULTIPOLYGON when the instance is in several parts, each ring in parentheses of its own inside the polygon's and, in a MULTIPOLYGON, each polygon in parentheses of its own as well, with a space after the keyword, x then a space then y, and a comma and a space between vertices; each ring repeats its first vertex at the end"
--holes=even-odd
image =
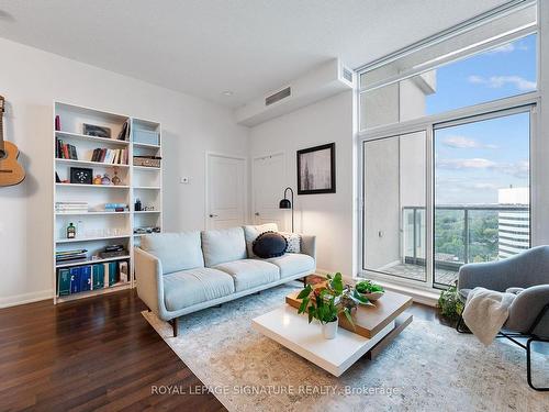
POLYGON ((298 194, 336 192, 336 144, 298 151, 298 194))

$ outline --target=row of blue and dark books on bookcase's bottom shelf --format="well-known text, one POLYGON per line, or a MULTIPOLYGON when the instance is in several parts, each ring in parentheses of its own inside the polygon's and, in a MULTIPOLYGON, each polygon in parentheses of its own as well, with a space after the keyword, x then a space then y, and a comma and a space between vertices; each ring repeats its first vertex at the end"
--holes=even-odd
POLYGON ((57 296, 107 289, 128 280, 127 260, 61 268, 57 269, 57 296))

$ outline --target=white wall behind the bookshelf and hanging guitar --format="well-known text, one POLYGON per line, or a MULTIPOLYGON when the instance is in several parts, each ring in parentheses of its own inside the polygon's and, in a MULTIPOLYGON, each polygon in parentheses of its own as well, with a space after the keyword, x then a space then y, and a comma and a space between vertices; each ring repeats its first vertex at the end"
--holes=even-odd
POLYGON ((203 227, 206 151, 248 154, 247 129, 216 104, 1 38, 0 55, 7 138, 27 174, 0 188, 0 307, 53 296, 53 100, 163 123, 166 231, 203 227))

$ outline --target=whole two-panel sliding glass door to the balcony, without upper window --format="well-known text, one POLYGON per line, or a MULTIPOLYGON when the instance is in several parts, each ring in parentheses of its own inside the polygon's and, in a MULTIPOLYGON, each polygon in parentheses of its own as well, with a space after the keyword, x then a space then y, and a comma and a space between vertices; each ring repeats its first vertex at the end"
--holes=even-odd
POLYGON ((531 108, 366 138, 363 272, 446 288, 530 247, 531 108))

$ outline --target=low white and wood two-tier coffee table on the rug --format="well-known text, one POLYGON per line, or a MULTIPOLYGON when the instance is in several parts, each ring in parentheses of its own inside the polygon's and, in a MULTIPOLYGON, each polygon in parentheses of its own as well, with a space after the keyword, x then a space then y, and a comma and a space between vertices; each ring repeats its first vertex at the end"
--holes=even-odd
POLYGON ((340 320, 336 338, 326 339, 317 321, 309 324, 306 314, 298 314, 298 293, 289 294, 285 305, 255 318, 251 325, 336 377, 365 355, 372 359, 412 322, 412 315, 403 313, 412 305, 412 298, 386 291, 376 308, 358 308, 354 318, 361 334, 346 330, 340 320))

